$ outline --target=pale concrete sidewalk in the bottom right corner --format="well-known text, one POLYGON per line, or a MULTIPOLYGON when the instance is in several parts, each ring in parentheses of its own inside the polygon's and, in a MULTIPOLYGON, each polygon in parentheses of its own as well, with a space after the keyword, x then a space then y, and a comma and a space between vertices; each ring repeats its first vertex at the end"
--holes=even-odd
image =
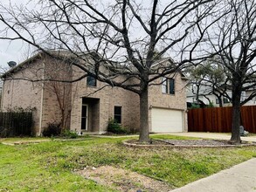
POLYGON ((171 192, 256 192, 256 158, 171 192))

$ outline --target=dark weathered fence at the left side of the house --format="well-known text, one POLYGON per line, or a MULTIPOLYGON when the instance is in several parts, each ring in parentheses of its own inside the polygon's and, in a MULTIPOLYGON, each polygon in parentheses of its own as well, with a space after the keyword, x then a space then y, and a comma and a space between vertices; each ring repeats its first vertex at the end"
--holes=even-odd
POLYGON ((1 112, 0 137, 31 135, 31 112, 1 112))

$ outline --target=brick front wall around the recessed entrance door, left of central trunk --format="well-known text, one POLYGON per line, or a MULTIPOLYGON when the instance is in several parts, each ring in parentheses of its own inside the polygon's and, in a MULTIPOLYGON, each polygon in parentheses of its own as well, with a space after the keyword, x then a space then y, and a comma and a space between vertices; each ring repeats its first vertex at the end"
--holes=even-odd
MULTIPOLYGON (((78 78, 84 74, 80 70, 73 68, 73 78, 78 78)), ((106 83, 97 81, 96 87, 86 86, 86 79, 82 79, 73 84, 73 107, 71 116, 71 128, 80 130, 82 98, 100 99, 99 116, 89 115, 89 118, 99 122, 99 127, 93 127, 92 131, 104 132, 107 130, 107 122, 114 118, 114 106, 121 106, 122 126, 132 129, 139 128, 139 97, 135 93, 128 92, 119 87, 110 87, 106 83), (106 87, 105 87, 106 86, 106 87), (104 87, 102 90, 98 91, 104 87)))

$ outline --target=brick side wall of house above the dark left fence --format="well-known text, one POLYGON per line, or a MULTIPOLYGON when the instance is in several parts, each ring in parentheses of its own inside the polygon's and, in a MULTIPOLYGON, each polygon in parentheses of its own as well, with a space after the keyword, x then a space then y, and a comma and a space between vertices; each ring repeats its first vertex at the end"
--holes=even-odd
POLYGON ((15 107, 34 108, 34 134, 38 134, 40 131, 42 83, 32 83, 31 81, 24 79, 34 79, 36 76, 42 77, 42 72, 36 72, 36 68, 42 68, 42 65, 38 62, 34 65, 28 65, 24 70, 19 70, 12 74, 9 79, 5 79, 3 81, 2 99, 3 111, 14 109, 15 107))

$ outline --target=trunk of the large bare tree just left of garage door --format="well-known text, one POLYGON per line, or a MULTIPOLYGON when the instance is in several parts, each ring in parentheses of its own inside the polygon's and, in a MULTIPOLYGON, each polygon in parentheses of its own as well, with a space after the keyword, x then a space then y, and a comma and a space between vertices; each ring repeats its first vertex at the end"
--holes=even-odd
POLYGON ((140 94, 140 142, 149 142, 149 86, 140 94))

